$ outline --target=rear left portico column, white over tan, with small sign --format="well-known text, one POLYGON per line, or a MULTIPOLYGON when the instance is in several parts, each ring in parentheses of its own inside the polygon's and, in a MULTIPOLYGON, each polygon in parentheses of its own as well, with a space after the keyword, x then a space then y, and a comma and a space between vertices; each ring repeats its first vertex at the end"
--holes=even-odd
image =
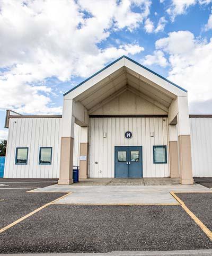
POLYGON ((89 127, 81 127, 80 178, 89 177, 89 127))

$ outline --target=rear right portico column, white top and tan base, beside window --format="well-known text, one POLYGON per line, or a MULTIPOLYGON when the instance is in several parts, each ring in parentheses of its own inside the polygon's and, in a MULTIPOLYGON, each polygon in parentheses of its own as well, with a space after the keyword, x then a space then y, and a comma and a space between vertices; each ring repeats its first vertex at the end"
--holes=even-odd
POLYGON ((179 178, 179 160, 178 160, 178 131, 176 125, 169 125, 169 163, 170 177, 179 178))

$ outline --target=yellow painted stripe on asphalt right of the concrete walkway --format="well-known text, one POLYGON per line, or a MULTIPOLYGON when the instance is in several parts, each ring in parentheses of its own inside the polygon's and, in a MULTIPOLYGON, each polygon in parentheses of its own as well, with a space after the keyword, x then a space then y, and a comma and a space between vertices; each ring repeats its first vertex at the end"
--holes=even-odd
MULTIPOLYGON (((202 222, 201 220, 192 213, 191 210, 189 210, 189 208, 184 204, 184 202, 175 195, 174 192, 170 192, 171 195, 180 203, 180 205, 182 206, 182 208, 187 212, 187 214, 193 219, 195 220, 195 222, 197 223, 197 225, 202 229, 202 231, 205 232, 205 234, 209 237, 210 240, 212 240, 212 232, 210 231, 210 229, 208 229, 202 222)), ((177 192, 178 193, 178 192, 177 192)))

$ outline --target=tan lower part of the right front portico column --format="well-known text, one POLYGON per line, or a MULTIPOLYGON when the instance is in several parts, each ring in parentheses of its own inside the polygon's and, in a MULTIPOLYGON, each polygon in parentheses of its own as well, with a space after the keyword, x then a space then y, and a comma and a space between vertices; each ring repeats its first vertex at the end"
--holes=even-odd
POLYGON ((179 135, 180 183, 193 184, 190 135, 179 135))

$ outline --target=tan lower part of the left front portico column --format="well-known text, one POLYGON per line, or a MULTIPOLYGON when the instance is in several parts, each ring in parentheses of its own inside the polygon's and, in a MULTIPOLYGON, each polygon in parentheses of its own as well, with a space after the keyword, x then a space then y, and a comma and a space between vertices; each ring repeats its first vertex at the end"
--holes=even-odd
POLYGON ((61 137, 59 185, 73 183, 73 149, 74 138, 61 137))

